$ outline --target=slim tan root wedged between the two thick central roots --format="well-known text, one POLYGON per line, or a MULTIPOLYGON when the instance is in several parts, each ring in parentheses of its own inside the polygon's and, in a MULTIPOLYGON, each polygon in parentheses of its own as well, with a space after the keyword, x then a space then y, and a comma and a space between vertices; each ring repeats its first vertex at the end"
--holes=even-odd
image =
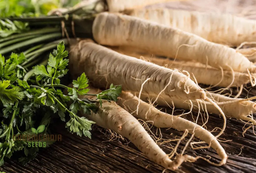
MULTIPOLYGON (((152 55, 143 55, 141 53, 134 53, 129 50, 124 50, 125 48, 111 47, 111 49, 125 55, 133 56, 139 59, 146 60, 148 62, 152 62, 159 66, 165 66, 170 69, 179 69, 180 71, 186 70, 191 75, 193 73, 197 82, 200 84, 206 84, 206 85, 218 84, 217 86, 227 87, 232 83, 233 76, 231 71, 224 70, 223 79, 222 79, 222 72, 220 69, 206 66, 205 64, 201 64, 198 62, 173 61, 170 59, 157 58, 152 55)), ((247 84, 249 82, 250 80, 249 80, 248 74, 234 72, 234 82, 232 83, 232 86, 241 86, 242 84, 247 84)))

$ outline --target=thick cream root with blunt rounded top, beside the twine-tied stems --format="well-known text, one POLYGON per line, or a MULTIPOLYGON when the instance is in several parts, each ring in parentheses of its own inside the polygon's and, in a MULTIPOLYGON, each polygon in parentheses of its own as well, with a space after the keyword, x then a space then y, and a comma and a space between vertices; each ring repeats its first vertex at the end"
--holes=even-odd
POLYGON ((255 71, 253 63, 232 48, 137 17, 100 13, 93 22, 92 33, 104 45, 131 46, 156 55, 221 66, 224 70, 255 71))

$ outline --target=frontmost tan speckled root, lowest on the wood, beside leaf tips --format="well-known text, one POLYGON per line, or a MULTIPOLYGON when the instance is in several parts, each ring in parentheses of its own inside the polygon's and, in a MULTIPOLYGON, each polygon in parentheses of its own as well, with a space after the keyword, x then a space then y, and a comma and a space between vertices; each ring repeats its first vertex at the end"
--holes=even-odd
POLYGON ((190 155, 183 155, 175 160, 171 160, 168 155, 155 143, 143 126, 130 113, 116 105, 114 102, 103 101, 102 107, 97 113, 91 115, 82 114, 97 125, 115 131, 116 133, 128 138, 143 154, 155 163, 175 170, 183 162, 195 161, 196 158, 190 155))

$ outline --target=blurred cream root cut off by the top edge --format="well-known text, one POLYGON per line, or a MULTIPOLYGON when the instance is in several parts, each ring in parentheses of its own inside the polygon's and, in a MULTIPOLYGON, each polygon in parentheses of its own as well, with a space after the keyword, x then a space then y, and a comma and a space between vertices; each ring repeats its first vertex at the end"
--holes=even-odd
POLYGON ((170 0, 106 0, 110 12, 131 11, 151 4, 166 2, 170 0))

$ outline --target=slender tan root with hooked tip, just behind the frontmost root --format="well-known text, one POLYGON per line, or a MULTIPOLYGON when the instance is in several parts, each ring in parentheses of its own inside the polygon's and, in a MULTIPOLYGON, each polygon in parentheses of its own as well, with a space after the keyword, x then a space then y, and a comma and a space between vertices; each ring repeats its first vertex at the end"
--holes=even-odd
MULTIPOLYGON (((190 134, 195 134, 196 137, 205 141, 209 144, 210 147, 214 148, 218 155, 221 158, 221 162, 219 164, 214 164, 216 166, 221 166, 226 163, 227 154, 225 150, 222 148, 218 140, 214 135, 212 135, 209 131, 202 128, 200 125, 197 125, 191 121, 188 121, 179 116, 172 116, 170 114, 159 111, 154 106, 149 105, 144 101, 140 101, 140 107, 138 108, 138 114, 135 113, 138 104, 138 97, 133 96, 131 93, 122 92, 120 94, 120 99, 118 100, 118 104, 125 108, 134 112, 134 116, 144 120, 150 121, 154 126, 160 128, 174 128, 180 131, 188 130, 190 134)), ((207 159, 205 159, 207 160, 207 159)), ((209 160, 207 160, 209 162, 209 160)), ((211 162, 209 162, 211 163, 211 162)), ((213 164, 213 163, 211 163, 213 164)))

